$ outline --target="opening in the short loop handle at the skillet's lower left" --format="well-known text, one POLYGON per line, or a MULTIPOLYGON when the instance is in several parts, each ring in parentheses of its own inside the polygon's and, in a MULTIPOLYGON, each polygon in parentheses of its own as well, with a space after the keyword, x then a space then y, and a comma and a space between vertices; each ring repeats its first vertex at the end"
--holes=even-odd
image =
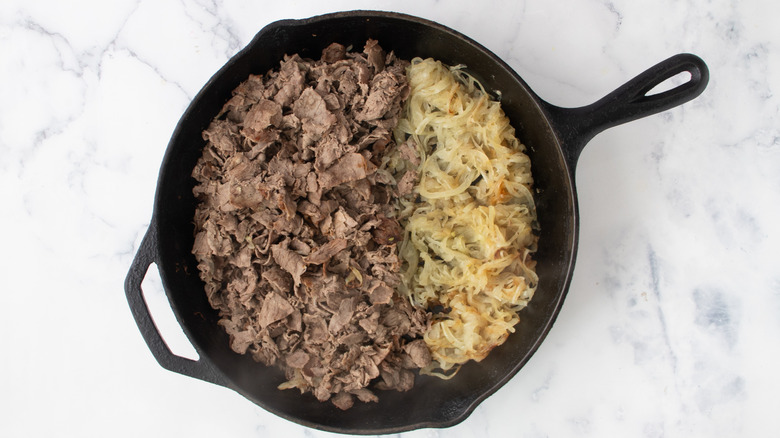
POLYGON ((162 286, 160 270, 155 263, 149 265, 146 276, 141 282, 141 290, 152 321, 171 353, 186 359, 199 360, 198 352, 187 339, 173 314, 173 309, 162 286))

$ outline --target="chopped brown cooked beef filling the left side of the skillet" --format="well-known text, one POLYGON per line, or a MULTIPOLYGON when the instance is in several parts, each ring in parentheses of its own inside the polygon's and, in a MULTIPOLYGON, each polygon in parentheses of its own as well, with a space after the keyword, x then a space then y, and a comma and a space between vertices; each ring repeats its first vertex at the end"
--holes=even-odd
POLYGON ((192 172, 192 252, 231 348, 341 409, 410 389, 431 360, 430 315, 395 291, 393 203, 416 180, 377 172, 396 148, 407 66, 374 40, 286 56, 234 90, 192 172))

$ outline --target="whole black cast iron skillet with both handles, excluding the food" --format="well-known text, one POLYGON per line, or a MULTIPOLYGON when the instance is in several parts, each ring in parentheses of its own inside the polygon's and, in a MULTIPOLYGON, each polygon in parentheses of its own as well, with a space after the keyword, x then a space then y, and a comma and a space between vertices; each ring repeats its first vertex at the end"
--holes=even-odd
POLYGON ((584 145, 602 130, 687 102, 705 88, 708 71, 694 55, 680 54, 640 74, 598 102, 566 109, 551 105, 496 55, 460 33, 417 17, 352 11, 305 20, 284 20, 262 29, 252 42, 217 72, 179 121, 160 169, 149 229, 133 260, 125 292, 138 327, 164 368, 233 389, 264 409, 299 424, 351 434, 395 433, 447 427, 463 421, 529 360, 550 330, 566 296, 577 250, 578 216, 574 169, 584 145), (538 188, 541 234, 537 254, 539 288, 523 310, 517 333, 481 363, 469 363, 452 380, 418 377, 409 392, 380 392, 378 403, 356 403, 345 412, 297 390, 280 391, 281 372, 255 363, 229 348, 206 300, 190 253, 196 200, 190 172, 204 144, 201 132, 231 91, 250 73, 276 68, 285 54, 318 59, 331 42, 362 48, 379 40, 405 59, 434 57, 466 64, 488 90, 500 90, 501 104, 530 148, 538 188), (678 73, 690 80, 648 96, 654 86, 678 73), (156 263, 171 307, 199 360, 171 353, 144 302, 141 282, 156 263))

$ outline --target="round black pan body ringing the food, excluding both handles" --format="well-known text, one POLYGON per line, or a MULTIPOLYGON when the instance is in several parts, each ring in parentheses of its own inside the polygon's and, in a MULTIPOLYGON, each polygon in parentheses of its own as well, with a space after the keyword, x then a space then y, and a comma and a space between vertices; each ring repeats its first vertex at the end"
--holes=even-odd
POLYGON ((163 283, 174 312, 201 358, 230 386, 265 409, 307 426, 348 433, 390 433, 444 427, 462 421, 479 401, 511 378, 547 334, 568 288, 576 249, 576 200, 571 173, 535 95, 502 61, 462 35, 425 20, 389 13, 353 12, 285 21, 263 29, 201 90, 179 122, 163 161, 155 199, 163 283), (218 315, 204 292, 190 253, 196 200, 190 173, 201 154, 201 132, 231 91, 252 74, 277 68, 285 54, 319 58, 332 42, 360 50, 366 39, 402 58, 433 57, 465 64, 488 90, 500 90, 504 111, 532 159, 540 241, 540 285, 521 314, 517 331, 480 363, 469 363, 449 381, 420 376, 405 393, 380 392, 378 403, 340 411, 298 391, 280 391, 282 373, 229 348, 218 315))

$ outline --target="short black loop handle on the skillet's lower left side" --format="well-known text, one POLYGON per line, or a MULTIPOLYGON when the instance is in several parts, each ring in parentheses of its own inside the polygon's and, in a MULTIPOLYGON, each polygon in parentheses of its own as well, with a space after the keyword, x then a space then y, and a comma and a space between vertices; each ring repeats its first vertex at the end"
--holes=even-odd
POLYGON ((155 221, 152 220, 125 278, 127 303, 130 305, 133 318, 135 318, 146 345, 163 368, 217 385, 228 386, 227 380, 222 374, 217 372, 202 358, 191 360, 173 354, 160 335, 160 331, 157 330, 157 326, 149 313, 149 307, 144 300, 141 283, 149 270, 149 266, 157 262, 158 254, 157 226, 155 221))

